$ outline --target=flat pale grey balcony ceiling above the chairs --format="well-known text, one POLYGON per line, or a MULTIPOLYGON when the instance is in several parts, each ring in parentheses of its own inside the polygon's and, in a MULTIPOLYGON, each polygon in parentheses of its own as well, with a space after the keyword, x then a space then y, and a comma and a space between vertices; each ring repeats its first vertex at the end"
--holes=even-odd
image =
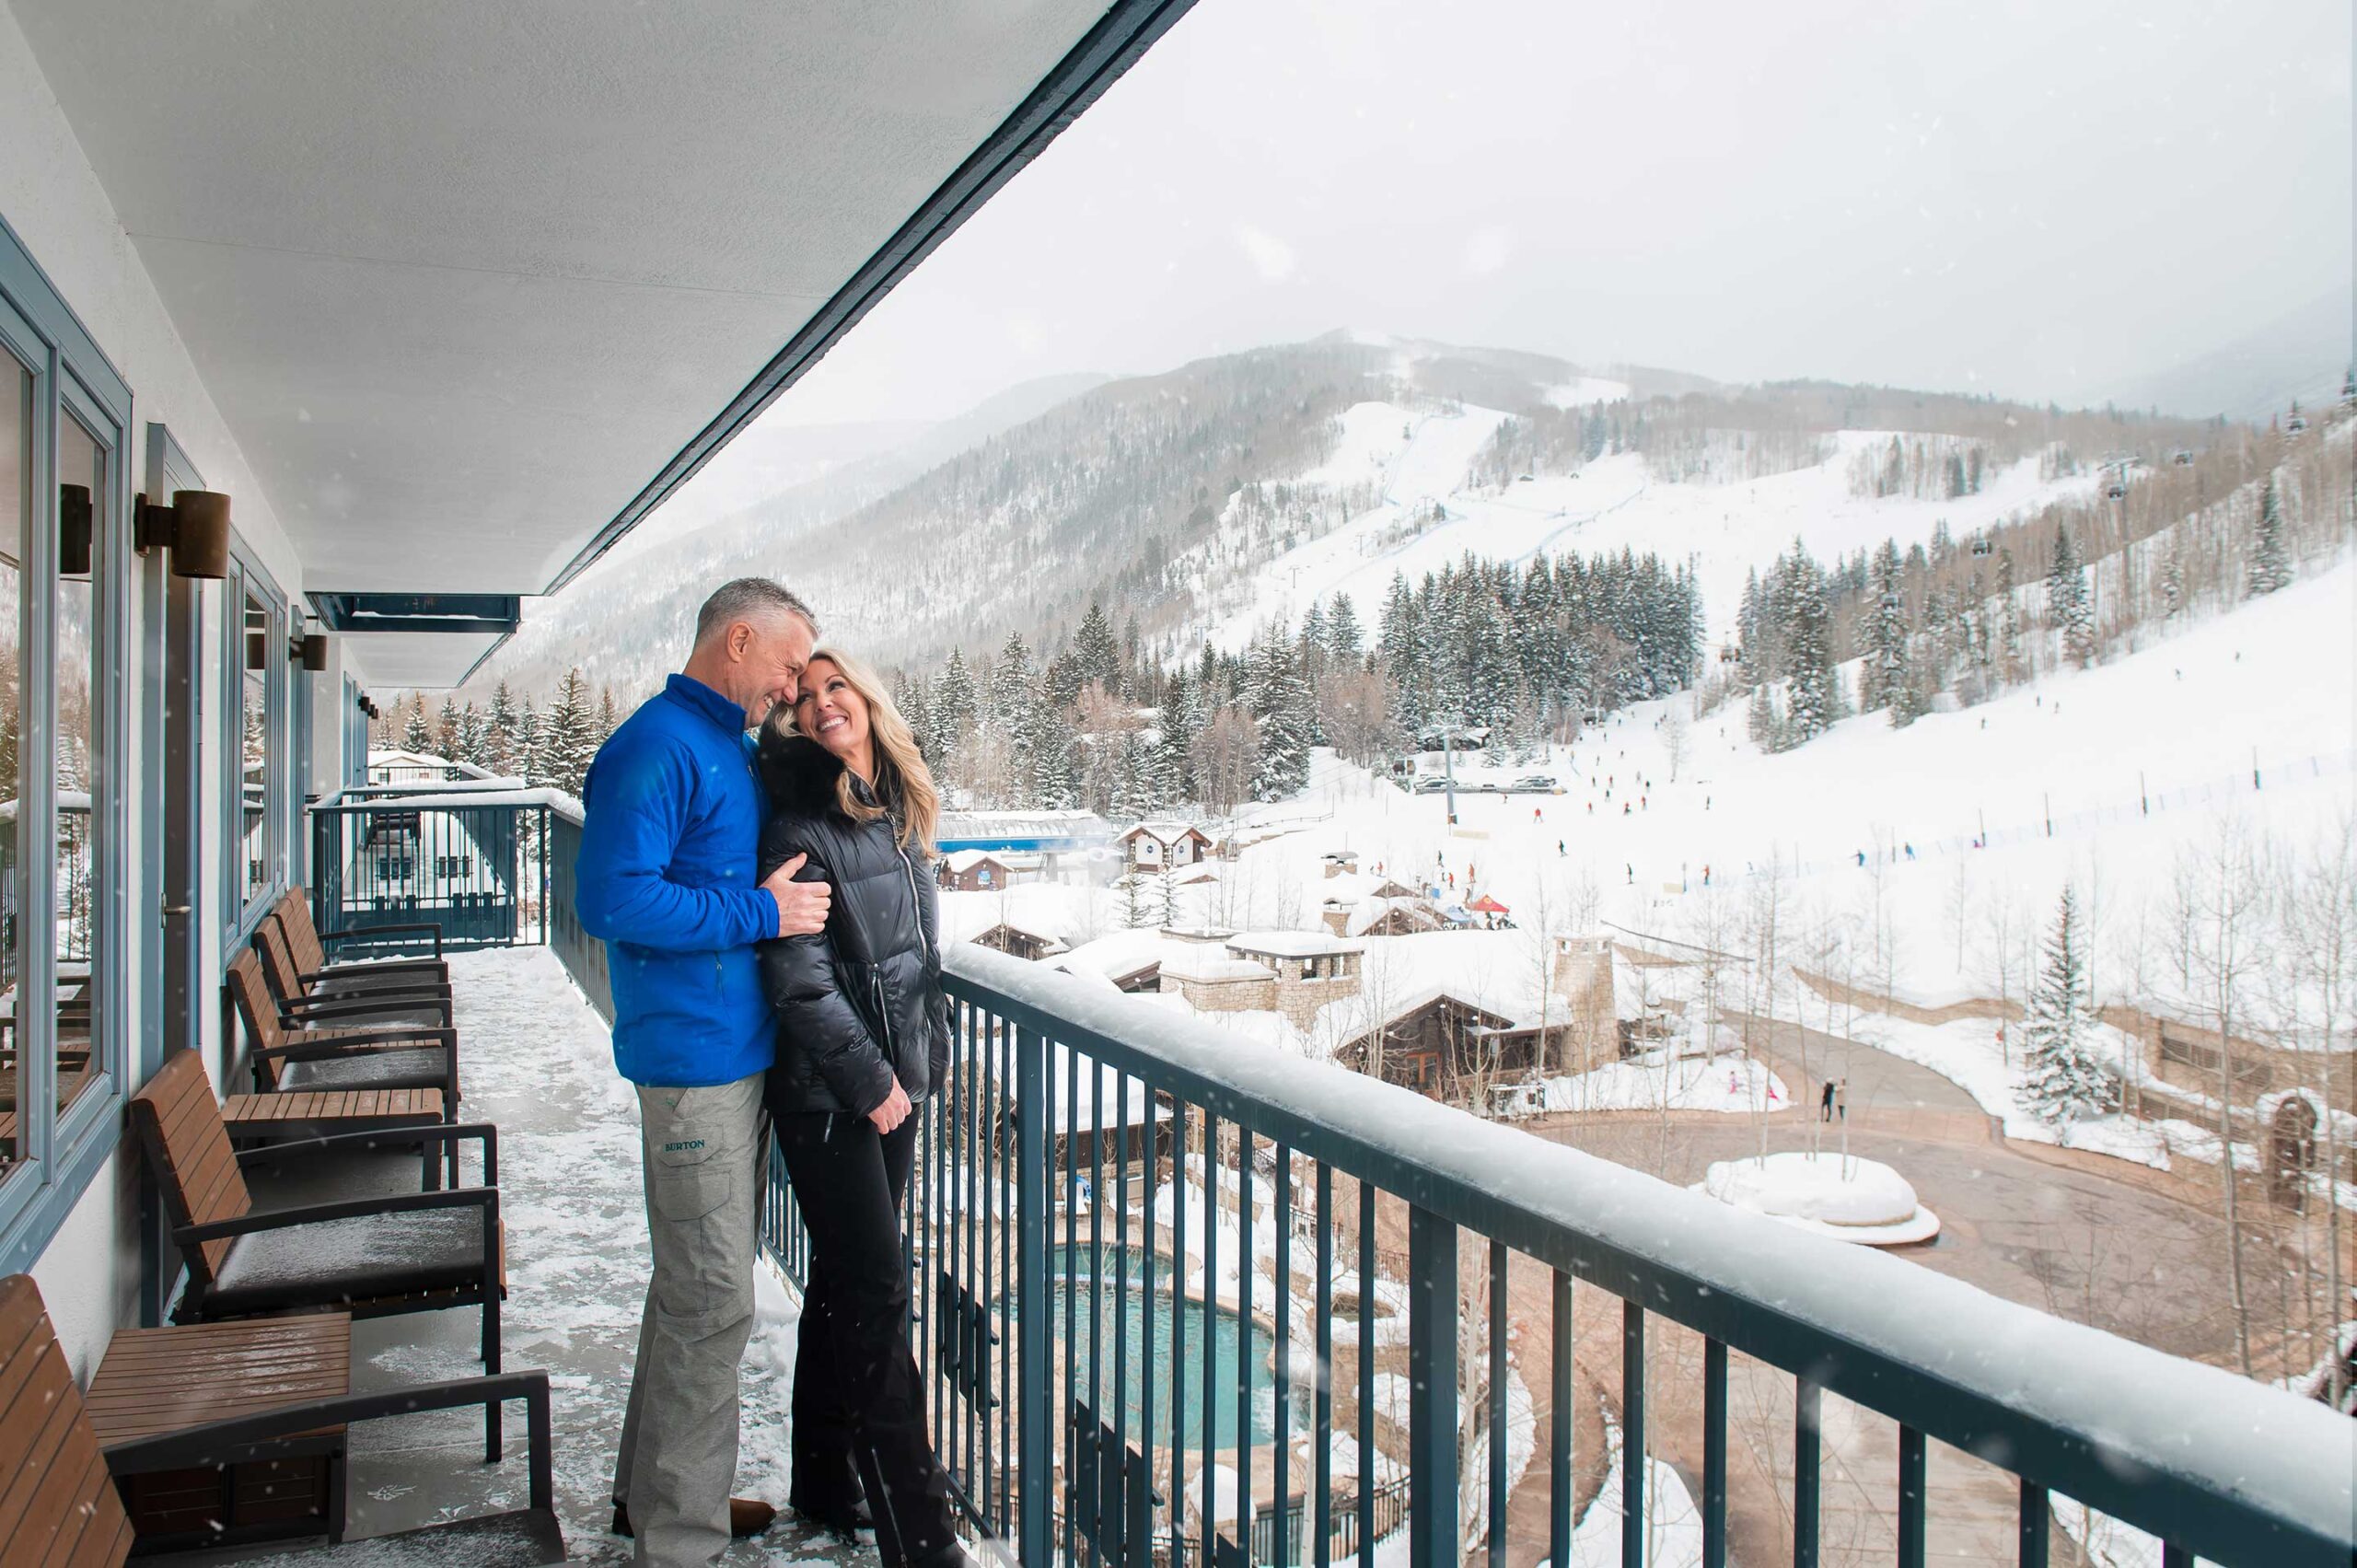
POLYGON ((1183 9, 7 5, 304 587, 514 594, 676 476, 1108 9, 1183 9))

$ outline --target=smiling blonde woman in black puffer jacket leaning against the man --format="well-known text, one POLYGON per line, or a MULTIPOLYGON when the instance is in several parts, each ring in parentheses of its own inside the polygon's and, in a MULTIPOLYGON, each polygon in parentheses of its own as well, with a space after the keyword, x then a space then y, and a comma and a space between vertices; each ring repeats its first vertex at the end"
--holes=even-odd
POLYGON ((832 651, 761 726, 761 875, 808 856, 797 879, 834 889, 823 934, 761 943, 778 1009, 766 1101, 811 1231, 790 1504, 841 1533, 872 1526, 884 1568, 950 1568, 964 1549, 924 1434, 900 1257, 915 1101, 950 1068, 929 870, 940 797, 891 696, 832 651))

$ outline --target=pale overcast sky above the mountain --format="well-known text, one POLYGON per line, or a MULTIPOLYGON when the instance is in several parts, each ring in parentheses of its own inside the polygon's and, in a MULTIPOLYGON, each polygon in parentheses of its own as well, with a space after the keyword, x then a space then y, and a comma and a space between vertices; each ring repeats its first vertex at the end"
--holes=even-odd
POLYGON ((1336 325, 2100 401, 2350 290, 2350 9, 1200 0, 771 417, 1336 325))

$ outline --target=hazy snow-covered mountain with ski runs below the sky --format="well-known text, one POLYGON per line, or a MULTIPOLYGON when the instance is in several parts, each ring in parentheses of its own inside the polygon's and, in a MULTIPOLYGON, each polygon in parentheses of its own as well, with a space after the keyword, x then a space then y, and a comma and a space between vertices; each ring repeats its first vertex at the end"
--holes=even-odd
POLYGON ((580 665, 618 693, 651 689, 702 594, 740 573, 787 580, 830 639, 900 667, 1009 632, 1054 646, 1091 601, 1169 653, 1242 646, 1334 592, 1372 625, 1393 573, 1414 580, 1466 552, 1690 561, 1718 634, 1744 575, 1796 538, 1822 556, 1904 547, 1940 523, 1961 538, 2084 495, 2102 460, 2164 465, 2213 439, 2138 415, 1735 389, 1332 332, 1162 375, 1032 382, 889 439, 846 431, 858 455, 658 531, 535 606, 476 686, 547 691, 580 665), (1912 465, 1897 488, 1879 467, 1893 439, 1912 465), (1956 465, 1949 483, 1942 462, 1956 465))

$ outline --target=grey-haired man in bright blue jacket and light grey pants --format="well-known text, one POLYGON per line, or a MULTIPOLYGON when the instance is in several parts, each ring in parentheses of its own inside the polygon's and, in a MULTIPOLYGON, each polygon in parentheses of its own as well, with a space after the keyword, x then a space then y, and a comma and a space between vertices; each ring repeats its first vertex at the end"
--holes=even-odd
POLYGON ((794 700, 816 637, 811 608, 768 578, 721 585, 686 670, 613 731, 582 785, 575 913, 606 941, 653 1250, 613 1528, 660 1568, 702 1568, 775 1516, 728 1497, 773 1045, 754 943, 823 931, 830 889, 794 882, 799 856, 757 877, 768 806, 745 731, 794 700))

